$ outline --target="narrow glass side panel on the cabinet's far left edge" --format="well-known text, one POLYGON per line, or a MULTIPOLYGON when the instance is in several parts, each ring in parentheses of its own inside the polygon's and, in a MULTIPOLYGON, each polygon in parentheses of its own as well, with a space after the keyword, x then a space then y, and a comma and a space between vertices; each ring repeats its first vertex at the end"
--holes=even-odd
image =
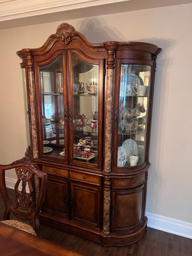
POLYGON ((26 68, 22 68, 22 82, 23 82, 23 92, 24 92, 27 148, 30 149, 31 143, 30 143, 30 130, 29 130, 29 103, 28 103, 28 92, 27 92, 27 84, 26 84, 26 68))

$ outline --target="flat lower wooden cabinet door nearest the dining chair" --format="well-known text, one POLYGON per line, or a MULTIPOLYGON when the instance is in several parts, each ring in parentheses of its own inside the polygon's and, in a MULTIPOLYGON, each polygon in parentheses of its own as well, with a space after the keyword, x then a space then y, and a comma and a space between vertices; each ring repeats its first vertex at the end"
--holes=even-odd
POLYGON ((52 215, 69 218, 68 214, 68 182, 47 180, 44 210, 52 215))

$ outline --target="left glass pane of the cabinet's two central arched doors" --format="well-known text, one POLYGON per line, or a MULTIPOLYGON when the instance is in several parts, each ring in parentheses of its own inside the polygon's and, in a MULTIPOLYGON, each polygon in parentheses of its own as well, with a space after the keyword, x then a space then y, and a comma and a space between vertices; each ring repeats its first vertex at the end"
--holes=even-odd
POLYGON ((65 158, 63 56, 39 67, 43 155, 65 158))

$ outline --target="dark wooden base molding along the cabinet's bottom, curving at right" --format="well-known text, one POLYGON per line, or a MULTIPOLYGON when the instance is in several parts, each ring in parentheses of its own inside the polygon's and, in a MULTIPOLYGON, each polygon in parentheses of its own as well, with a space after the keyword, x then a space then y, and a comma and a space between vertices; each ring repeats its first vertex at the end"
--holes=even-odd
POLYGON ((126 246, 136 243, 143 237, 147 227, 147 217, 144 217, 139 228, 126 234, 104 234, 100 230, 95 230, 95 228, 77 225, 76 222, 73 223, 72 221, 61 220, 59 218, 57 220, 55 216, 50 216, 46 213, 44 214, 44 212, 41 212, 40 214, 40 223, 73 234, 74 236, 80 236, 93 242, 100 243, 104 246, 126 246))

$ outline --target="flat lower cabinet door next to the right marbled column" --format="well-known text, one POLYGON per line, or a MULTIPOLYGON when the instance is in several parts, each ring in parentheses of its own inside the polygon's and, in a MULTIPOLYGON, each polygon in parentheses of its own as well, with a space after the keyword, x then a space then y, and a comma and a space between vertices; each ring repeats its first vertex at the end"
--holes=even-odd
POLYGON ((101 188, 70 182, 71 220, 83 225, 101 226, 101 188))

